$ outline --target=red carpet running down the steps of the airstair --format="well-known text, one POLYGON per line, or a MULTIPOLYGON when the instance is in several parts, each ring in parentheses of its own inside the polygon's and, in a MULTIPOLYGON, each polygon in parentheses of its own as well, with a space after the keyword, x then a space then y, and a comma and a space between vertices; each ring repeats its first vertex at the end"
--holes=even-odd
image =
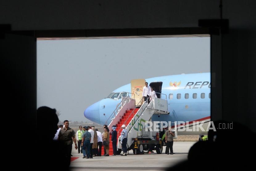
MULTIPOLYGON (((135 110, 134 110, 134 113, 132 113, 132 111, 133 111, 134 109, 130 109, 130 110, 126 110, 126 112, 124 113, 124 115, 122 116, 122 118, 118 121, 118 124, 116 124, 116 126, 117 126, 117 129, 116 129, 116 131, 118 132, 119 131, 119 129, 121 128, 121 126, 123 125, 123 124, 125 124, 126 126, 130 123, 130 121, 131 121, 131 119, 134 117, 134 115, 138 112, 138 108, 136 108, 135 110), (132 113, 132 114, 131 114, 132 113)), ((111 128, 110 128, 111 129, 111 128)), ((112 132, 113 130, 111 130, 111 132, 112 132)), ((122 132, 122 130, 120 129, 120 131, 119 131, 119 133, 118 133, 118 135, 117 135, 117 140, 118 140, 118 137, 121 135, 121 132, 122 132)), ((102 149, 101 149, 101 155, 103 155, 104 154, 104 147, 102 147, 102 149)), ((112 146, 112 142, 111 142, 111 134, 110 134, 110 136, 109 136, 109 156, 110 155, 113 155, 113 146, 112 146)))

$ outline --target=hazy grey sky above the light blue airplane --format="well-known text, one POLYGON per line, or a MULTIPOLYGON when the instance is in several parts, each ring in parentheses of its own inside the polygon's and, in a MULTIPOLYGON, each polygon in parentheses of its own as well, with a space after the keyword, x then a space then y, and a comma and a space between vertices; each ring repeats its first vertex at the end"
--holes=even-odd
POLYGON ((37 41, 37 107, 88 121, 89 105, 132 79, 200 72, 210 72, 209 37, 37 41))

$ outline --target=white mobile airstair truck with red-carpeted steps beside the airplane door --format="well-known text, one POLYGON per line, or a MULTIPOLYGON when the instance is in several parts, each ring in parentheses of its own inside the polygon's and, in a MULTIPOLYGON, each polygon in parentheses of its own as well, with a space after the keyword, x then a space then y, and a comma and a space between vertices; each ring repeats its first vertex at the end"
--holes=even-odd
MULTIPOLYGON (((125 92, 126 93, 126 92, 125 92)), ((132 93, 127 93, 131 94, 132 93)), ((162 94, 165 95, 165 94, 162 94)), ((163 97, 163 96, 162 96, 163 97)), ((112 115, 106 121, 110 132, 112 132, 112 126, 117 126, 118 131, 118 152, 122 151, 121 139, 121 126, 126 125, 127 135, 127 149, 133 149, 134 154, 143 153, 143 150, 156 150, 157 153, 162 153, 162 140, 159 138, 158 131, 148 131, 145 128, 147 121, 151 121, 153 114, 169 114, 167 110, 167 99, 155 98, 155 101, 151 101, 149 104, 144 102, 143 97, 135 105, 135 100, 130 96, 122 97, 122 101, 114 110, 112 115)), ((110 135, 111 139, 111 135, 110 135)), ((104 153, 104 152, 103 152, 104 153)), ((112 143, 109 144, 109 155, 113 154, 112 143)))

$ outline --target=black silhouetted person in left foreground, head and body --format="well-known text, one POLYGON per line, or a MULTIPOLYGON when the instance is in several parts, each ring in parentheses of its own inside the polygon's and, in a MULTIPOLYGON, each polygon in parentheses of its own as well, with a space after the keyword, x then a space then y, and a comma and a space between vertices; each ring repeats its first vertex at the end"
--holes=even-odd
POLYGON ((35 156, 37 167, 34 168, 35 170, 69 170, 69 165, 65 162, 63 146, 60 142, 53 140, 58 122, 56 109, 46 106, 37 109, 38 134, 35 148, 39 154, 35 156))

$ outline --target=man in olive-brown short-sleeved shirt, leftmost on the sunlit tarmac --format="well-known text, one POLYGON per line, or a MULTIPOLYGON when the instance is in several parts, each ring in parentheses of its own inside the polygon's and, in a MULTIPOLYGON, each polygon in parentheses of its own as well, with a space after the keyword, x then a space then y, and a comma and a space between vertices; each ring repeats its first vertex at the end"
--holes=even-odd
POLYGON ((60 130, 58 141, 61 141, 63 143, 65 157, 67 157, 66 162, 68 162, 68 165, 70 165, 72 144, 73 144, 72 139, 75 143, 75 149, 77 149, 76 137, 75 137, 75 131, 68 127, 69 125, 68 120, 64 121, 64 125, 65 127, 60 130))

